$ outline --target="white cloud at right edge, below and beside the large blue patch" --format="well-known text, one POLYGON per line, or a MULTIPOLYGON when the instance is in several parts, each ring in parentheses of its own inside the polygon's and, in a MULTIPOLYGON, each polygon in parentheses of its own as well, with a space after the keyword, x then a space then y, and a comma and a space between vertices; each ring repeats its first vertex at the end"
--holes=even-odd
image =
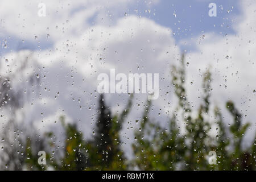
MULTIPOLYGON (((213 73, 212 103, 221 107, 226 123, 232 123, 226 113, 224 101, 232 100, 243 113, 243 122, 251 122, 250 131, 255 131, 255 28, 256 3, 242 1, 243 15, 232 27, 235 35, 202 34, 192 41, 197 51, 187 54, 187 86, 189 98, 196 107, 199 105, 201 77, 205 69, 213 73), (191 82, 193 84, 191 85, 191 82)), ((246 141, 251 142, 254 132, 247 133, 246 141)))

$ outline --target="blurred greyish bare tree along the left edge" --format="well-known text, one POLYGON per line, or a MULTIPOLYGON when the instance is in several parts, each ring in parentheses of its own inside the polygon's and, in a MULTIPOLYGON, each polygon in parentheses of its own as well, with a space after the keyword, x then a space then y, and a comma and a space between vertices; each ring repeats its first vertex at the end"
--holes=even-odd
MULTIPOLYGON (((39 79, 35 76, 38 73, 26 72, 28 63, 32 62, 32 65, 38 66, 37 62, 32 60, 31 54, 24 57, 17 57, 13 61, 19 62, 19 64, 15 65, 15 72, 10 67, 7 75, 0 75, 0 121, 2 126, 0 129, 2 139, 0 143, 0 170, 25 169, 26 164, 28 164, 26 150, 27 139, 30 138, 30 144, 27 147, 38 148, 37 146, 40 146, 40 141, 43 142, 43 139, 37 140, 37 137, 31 137, 35 131, 32 126, 30 126, 31 130, 26 130, 26 126, 30 125, 30 123, 24 125, 23 121, 18 122, 18 118, 23 117, 19 110, 24 104, 23 90, 20 90, 18 87, 13 88, 13 82, 17 78, 20 81, 19 76, 27 78, 26 82, 30 85, 39 82, 39 79), (37 141, 35 142, 35 140, 37 141)), ((38 66, 38 68, 40 67, 38 66)), ((33 155, 35 156, 37 154, 34 153, 33 155)))

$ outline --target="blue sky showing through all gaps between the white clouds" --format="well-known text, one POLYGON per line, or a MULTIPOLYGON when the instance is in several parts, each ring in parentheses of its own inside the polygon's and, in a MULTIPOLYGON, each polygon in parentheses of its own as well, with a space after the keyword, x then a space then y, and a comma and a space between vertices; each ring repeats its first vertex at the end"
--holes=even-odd
MULTIPOLYGON (((86 7, 80 7, 80 9, 86 9, 86 7)), ((111 9, 110 13, 112 13, 111 9)), ((171 30, 175 32, 173 36, 176 43, 179 43, 180 40, 199 36, 203 32, 214 32, 223 35, 235 34, 236 32, 234 32, 232 24, 236 23, 236 16, 241 14, 241 10, 238 0, 164 0, 158 3, 151 3, 150 6, 148 2, 145 3, 140 0, 137 3, 130 3, 129 6, 126 7, 125 12, 119 12, 115 18, 120 18, 124 16, 125 13, 127 13, 128 16, 138 15, 146 17, 164 27, 171 28, 171 30), (209 17, 208 15, 208 5, 211 2, 217 5, 217 17, 209 17), (150 13, 148 13, 148 10, 150 10, 150 13), (229 13, 228 10, 230 10, 229 13)), ((97 14, 90 18, 89 21, 91 25, 94 24, 96 16, 97 14)), ((1 36, 0 38, 1 40, 7 39, 8 42, 8 49, 1 47, 0 55, 12 50, 31 49, 34 51, 51 48, 53 44, 50 39, 43 39, 40 43, 38 43, 38 40, 25 40, 25 42, 22 43, 22 40, 12 34, 1 36)), ((184 44, 180 44, 180 47, 181 49, 187 49, 187 51, 193 50, 193 47, 188 47, 184 44)))

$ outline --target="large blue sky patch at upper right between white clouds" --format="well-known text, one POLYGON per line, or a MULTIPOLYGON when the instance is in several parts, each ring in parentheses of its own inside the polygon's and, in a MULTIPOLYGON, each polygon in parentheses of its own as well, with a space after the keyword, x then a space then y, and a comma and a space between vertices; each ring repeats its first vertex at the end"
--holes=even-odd
MULTIPOLYGON (((160 1, 150 7, 150 14, 143 1, 137 5, 138 15, 152 19, 164 27, 169 27, 174 34, 177 43, 180 40, 190 39, 203 34, 214 32, 215 34, 235 34, 232 24, 236 23, 236 17, 240 16, 240 4, 237 0, 172 0, 160 1), (209 3, 216 3, 217 16, 210 17, 209 3), (229 13, 228 13, 229 12, 229 13), (153 15, 155 13, 155 15, 153 15), (233 21, 233 22, 232 22, 233 21)), ((129 13, 134 13, 134 7, 129 7, 129 13)), ((180 45, 181 49, 190 51, 193 47, 180 45)))

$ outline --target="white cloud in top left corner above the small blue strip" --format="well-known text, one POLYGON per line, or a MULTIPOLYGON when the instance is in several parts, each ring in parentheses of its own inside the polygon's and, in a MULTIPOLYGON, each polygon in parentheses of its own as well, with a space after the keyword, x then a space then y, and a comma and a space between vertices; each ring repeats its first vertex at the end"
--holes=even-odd
MULTIPOLYGON (((80 35, 89 27, 89 20, 96 14, 115 9, 123 11, 131 1, 84 1, 84 0, 2 0, 0 2, 0 30, 8 36, 22 40, 59 40, 80 35), (38 16, 39 3, 46 5, 46 16, 38 16)), ((112 19, 114 17, 111 17, 112 19)), ((104 21, 110 19, 104 16, 104 21)), ((100 22, 98 22, 100 23, 100 22)))

